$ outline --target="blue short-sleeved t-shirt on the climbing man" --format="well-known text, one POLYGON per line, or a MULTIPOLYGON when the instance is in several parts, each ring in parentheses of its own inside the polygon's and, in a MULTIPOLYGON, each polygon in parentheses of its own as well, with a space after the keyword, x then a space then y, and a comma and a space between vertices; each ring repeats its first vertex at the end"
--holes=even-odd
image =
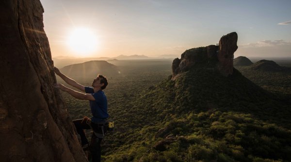
POLYGON ((99 90, 94 93, 94 89, 92 87, 85 87, 85 92, 92 94, 92 96, 95 98, 95 101, 89 101, 91 113, 93 115, 92 122, 98 123, 108 118, 109 115, 107 113, 107 98, 104 92, 99 90))

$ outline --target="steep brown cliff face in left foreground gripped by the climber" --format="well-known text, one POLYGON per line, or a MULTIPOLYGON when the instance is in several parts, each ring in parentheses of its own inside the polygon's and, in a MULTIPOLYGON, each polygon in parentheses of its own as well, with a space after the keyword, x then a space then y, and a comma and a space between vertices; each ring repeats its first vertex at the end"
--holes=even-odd
POLYGON ((86 162, 56 78, 39 0, 0 5, 1 162, 86 162))

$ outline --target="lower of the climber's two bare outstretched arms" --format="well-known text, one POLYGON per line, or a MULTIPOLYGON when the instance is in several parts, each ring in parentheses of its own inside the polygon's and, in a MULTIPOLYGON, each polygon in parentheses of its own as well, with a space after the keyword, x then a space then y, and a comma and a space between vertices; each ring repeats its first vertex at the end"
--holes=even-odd
POLYGON ((75 97, 77 99, 95 101, 95 98, 92 96, 92 94, 81 93, 81 92, 78 92, 78 91, 73 90, 71 88, 67 88, 62 84, 56 84, 54 87, 59 88, 65 92, 69 93, 70 95, 72 95, 73 97, 75 97))

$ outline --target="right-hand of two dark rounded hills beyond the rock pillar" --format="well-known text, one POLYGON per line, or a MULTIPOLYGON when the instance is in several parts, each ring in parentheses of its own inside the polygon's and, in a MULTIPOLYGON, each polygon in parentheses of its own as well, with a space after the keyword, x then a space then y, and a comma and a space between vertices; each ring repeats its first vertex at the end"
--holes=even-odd
POLYGON ((249 67, 251 70, 283 72, 288 71, 289 68, 282 67, 272 60, 259 60, 249 67))

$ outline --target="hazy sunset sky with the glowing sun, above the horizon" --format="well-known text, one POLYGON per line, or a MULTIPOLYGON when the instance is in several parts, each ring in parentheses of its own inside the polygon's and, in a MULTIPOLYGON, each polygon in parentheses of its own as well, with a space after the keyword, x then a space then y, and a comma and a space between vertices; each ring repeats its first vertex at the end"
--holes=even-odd
POLYGON ((40 0, 52 57, 180 57, 238 33, 235 57, 291 57, 291 0, 40 0))

